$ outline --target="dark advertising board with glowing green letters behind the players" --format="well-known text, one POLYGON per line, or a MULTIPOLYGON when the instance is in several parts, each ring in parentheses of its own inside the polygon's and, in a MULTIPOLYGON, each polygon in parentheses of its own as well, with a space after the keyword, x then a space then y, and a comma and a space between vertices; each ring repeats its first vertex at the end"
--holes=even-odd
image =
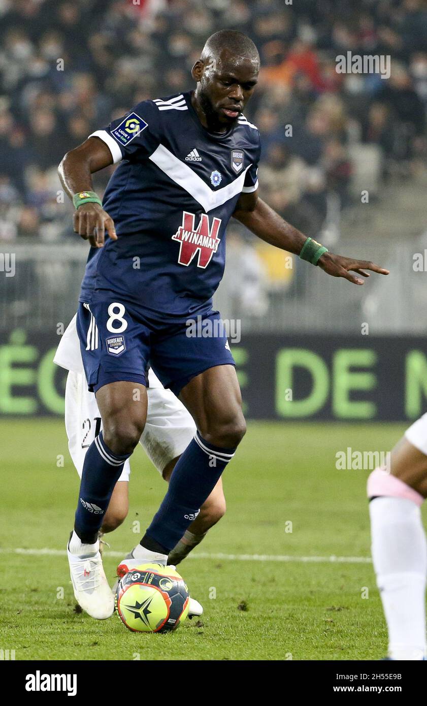
MULTIPOLYGON (((0 335, 0 416, 64 413, 59 335, 0 335)), ((231 344, 248 419, 410 421, 427 409, 421 337, 248 334, 231 344)))

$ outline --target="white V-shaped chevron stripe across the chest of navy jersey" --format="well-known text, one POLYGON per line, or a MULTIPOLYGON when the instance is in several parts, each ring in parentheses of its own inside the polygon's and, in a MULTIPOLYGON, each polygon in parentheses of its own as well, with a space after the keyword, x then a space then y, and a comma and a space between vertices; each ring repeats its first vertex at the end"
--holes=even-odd
POLYGON ((231 181, 231 184, 223 186, 218 191, 212 191, 208 184, 205 184, 203 179, 196 172, 193 172, 191 167, 188 167, 188 164, 181 162, 164 145, 159 145, 149 159, 157 164, 157 167, 162 169, 162 172, 167 174, 169 179, 172 179, 175 184, 185 189, 195 201, 198 201, 205 209, 205 213, 221 206, 226 201, 237 196, 238 193, 241 193, 245 183, 246 172, 252 166, 252 164, 248 164, 244 172, 237 179, 231 181))

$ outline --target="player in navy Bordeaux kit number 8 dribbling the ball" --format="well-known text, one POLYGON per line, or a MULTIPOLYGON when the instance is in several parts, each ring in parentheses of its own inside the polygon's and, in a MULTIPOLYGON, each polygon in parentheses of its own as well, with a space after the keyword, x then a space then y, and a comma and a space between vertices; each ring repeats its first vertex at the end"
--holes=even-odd
POLYGON ((85 455, 68 561, 72 578, 83 574, 83 566, 88 582, 93 575, 94 587, 79 602, 97 618, 114 611, 97 532, 143 433, 148 362, 198 431, 132 551, 135 561, 166 563, 246 431, 234 359, 212 310, 231 216, 334 277, 361 285, 366 270, 387 274, 371 262, 327 252, 258 198, 260 136, 243 109, 259 68, 246 35, 216 32, 193 66, 195 91, 139 103, 68 152, 59 168, 76 208, 74 229, 92 246, 77 327, 102 432, 85 455), (118 162, 102 203, 91 175, 118 162), (188 323, 198 316, 202 330, 219 335, 188 335, 188 323), (90 512, 92 504, 99 513, 90 512))

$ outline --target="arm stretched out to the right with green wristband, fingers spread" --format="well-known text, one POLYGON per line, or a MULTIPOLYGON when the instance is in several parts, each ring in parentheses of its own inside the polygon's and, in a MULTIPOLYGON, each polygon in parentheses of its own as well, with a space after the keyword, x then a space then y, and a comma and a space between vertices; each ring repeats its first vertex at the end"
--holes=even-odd
POLYGON ((369 277, 366 270, 380 275, 388 275, 389 273, 388 270, 380 268, 375 263, 345 258, 327 252, 318 243, 308 239, 294 226, 283 220, 265 201, 258 198, 256 192, 242 194, 233 215, 261 240, 282 250, 295 253, 295 255, 301 254, 303 259, 318 265, 332 277, 344 277, 354 285, 363 285, 364 280, 352 275, 351 271, 363 275, 363 277, 369 277))

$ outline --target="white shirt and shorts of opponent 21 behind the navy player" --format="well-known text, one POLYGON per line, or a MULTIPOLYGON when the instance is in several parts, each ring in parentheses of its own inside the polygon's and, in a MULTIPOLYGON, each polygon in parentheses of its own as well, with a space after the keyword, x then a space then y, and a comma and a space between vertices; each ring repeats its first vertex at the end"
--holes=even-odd
MULTIPOLYGON (((88 390, 76 329, 76 316, 68 325, 56 349, 54 362, 68 370, 65 391, 65 426, 68 449, 81 477, 85 454, 102 428, 101 415, 94 393, 88 390)), ((157 470, 162 473, 167 464, 186 449, 196 424, 186 407, 150 369, 148 413, 140 445, 157 470)), ((119 481, 128 481, 131 467, 126 460, 119 481)))

